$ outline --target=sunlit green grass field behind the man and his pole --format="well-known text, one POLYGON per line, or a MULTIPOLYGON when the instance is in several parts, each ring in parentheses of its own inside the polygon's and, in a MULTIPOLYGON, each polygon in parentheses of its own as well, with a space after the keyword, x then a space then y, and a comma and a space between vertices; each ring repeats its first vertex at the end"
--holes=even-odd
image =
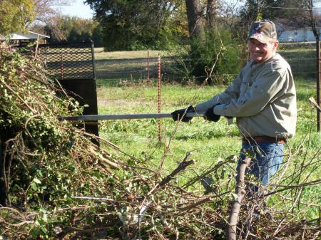
MULTIPOLYGON (((118 54, 121 55, 116 53, 114 57, 117 58, 118 54)), ((292 61, 295 61, 295 55, 292 54, 294 54, 292 51, 285 53, 287 58, 291 57, 292 61)), ((316 83, 311 78, 297 76, 295 84, 298 110, 297 135, 286 145, 284 160, 290 165, 283 177, 284 180, 281 181, 282 184, 310 182, 320 179, 321 176, 321 135, 316 131, 316 110, 308 103, 310 96, 316 98, 316 83)), ((201 103, 220 93, 224 88, 225 86, 208 85, 200 88, 199 85, 193 84, 162 85, 161 113, 170 113, 178 108, 201 103)), ((153 83, 128 83, 98 88, 99 114, 157 113, 157 109, 157 87, 153 83)), ((148 162, 148 165, 155 169, 163 157, 164 175, 177 167, 187 152, 192 152, 195 160, 195 167, 187 174, 200 174, 220 160, 238 156, 241 146, 238 128, 235 124, 228 125, 225 118, 216 123, 205 121, 203 118, 194 118, 192 122, 181 123, 178 126, 171 119, 163 119, 161 142, 158 141, 158 120, 102 121, 100 135, 121 147, 128 155, 142 162, 148 162)), ((119 154, 119 152, 113 153, 119 154)), ((123 157, 126 158, 126 155, 123 157)), ((235 168, 235 162, 230 168, 235 168)), ((184 179, 178 180, 184 182, 184 179)), ((291 193, 287 194, 291 196, 291 193)), ((320 205, 320 196, 320 184, 304 187, 300 201, 320 205)), ((273 198, 270 202, 273 202, 273 198)), ((307 216, 315 218, 317 211, 317 207, 310 207, 307 216)))

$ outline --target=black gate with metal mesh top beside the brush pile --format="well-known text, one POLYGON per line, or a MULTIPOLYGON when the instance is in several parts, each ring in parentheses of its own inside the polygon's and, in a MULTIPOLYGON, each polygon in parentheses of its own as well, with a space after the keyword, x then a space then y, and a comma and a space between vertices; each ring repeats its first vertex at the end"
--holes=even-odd
MULTIPOLYGON (((98 114, 93 42, 39 44, 38 56, 69 96, 88 105, 83 115, 98 114)), ((97 121, 84 125, 86 132, 98 136, 97 121)))

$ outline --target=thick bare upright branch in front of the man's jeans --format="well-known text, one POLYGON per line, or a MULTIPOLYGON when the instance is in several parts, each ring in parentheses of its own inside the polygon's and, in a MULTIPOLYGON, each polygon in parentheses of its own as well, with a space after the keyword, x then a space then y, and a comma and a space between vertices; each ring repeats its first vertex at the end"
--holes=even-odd
POLYGON ((245 196, 245 170, 250 164, 250 158, 246 157, 240 165, 240 169, 238 172, 238 176, 236 177, 236 186, 235 186, 235 194, 238 196, 237 199, 232 204, 232 208, 230 209, 230 217, 228 219, 228 238, 227 240, 236 240, 237 232, 236 226, 238 224, 238 215, 240 214, 240 206, 242 204, 242 200, 245 196))

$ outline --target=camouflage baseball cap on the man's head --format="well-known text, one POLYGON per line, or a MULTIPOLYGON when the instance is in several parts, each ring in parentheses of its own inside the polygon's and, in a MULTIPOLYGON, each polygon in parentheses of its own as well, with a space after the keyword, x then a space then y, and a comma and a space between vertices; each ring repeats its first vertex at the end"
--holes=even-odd
POLYGON ((271 40, 277 40, 277 31, 275 24, 269 20, 255 21, 251 25, 248 39, 255 38, 261 43, 267 43, 271 40))

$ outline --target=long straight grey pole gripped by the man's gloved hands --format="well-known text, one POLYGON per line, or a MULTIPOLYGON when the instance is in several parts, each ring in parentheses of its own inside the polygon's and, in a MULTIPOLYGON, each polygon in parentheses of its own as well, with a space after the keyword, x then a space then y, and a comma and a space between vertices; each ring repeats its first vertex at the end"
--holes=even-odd
MULTIPOLYGON (((203 113, 186 113, 186 117, 203 117, 203 113)), ((113 115, 80 115, 62 116, 58 120, 67 121, 96 121, 96 120, 121 120, 121 119, 144 119, 144 118, 172 118, 170 113, 143 113, 143 114, 113 114, 113 115)))

